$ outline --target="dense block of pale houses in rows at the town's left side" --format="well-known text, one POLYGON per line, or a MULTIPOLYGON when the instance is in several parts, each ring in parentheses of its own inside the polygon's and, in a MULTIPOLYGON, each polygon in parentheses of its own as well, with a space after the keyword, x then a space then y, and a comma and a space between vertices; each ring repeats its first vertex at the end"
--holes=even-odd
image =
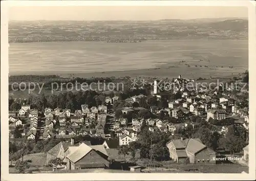
MULTIPOLYGON (((31 110, 30 105, 22 105, 18 112, 9 113, 9 133, 22 125, 22 136, 27 139, 71 138, 77 135, 103 135, 107 107, 81 105, 81 110, 46 108, 44 113, 31 110), (103 118, 102 118, 103 117, 103 118), (38 123, 39 122, 39 123, 38 123)), ((13 135, 10 135, 13 138, 13 135)))

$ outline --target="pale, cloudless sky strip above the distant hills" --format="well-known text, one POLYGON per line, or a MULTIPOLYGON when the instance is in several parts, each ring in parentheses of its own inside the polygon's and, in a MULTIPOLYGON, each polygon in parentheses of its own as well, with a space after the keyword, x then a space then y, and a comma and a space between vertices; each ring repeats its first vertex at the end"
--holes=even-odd
POLYGON ((202 6, 19 6, 10 20, 157 20, 247 18, 247 7, 202 6))

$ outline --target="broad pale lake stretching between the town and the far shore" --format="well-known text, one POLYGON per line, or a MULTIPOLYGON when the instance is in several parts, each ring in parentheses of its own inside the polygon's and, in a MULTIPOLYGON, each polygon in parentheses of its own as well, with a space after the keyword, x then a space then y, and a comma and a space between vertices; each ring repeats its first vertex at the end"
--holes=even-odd
POLYGON ((9 46, 10 74, 127 71, 176 66, 180 61, 191 67, 233 66, 232 72, 243 71, 248 69, 248 40, 74 41, 9 46))

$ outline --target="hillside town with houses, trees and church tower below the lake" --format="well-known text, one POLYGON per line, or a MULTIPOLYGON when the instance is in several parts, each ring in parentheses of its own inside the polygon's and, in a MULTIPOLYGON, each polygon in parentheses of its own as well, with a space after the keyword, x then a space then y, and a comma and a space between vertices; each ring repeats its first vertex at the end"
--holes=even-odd
MULTIPOLYGON (((228 81, 248 83, 248 71, 228 81)), ((248 90, 165 91, 156 82, 9 97, 10 172, 248 170, 248 90)))

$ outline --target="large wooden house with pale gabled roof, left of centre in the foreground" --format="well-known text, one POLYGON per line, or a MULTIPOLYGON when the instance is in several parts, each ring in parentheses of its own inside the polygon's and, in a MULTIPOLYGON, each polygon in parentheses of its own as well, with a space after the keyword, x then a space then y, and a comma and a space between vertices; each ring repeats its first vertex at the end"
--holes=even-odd
MULTIPOLYGON (((98 146, 99 145, 95 145, 98 146)), ((94 147, 95 147, 94 146, 94 147)), ((103 147, 103 145, 100 145, 103 147)), ((93 149, 84 143, 80 144, 74 152, 66 156, 67 169, 84 169, 84 168, 105 168, 109 166, 108 156, 103 154, 99 149, 93 149)), ((104 148, 104 147, 103 147, 104 148)))

